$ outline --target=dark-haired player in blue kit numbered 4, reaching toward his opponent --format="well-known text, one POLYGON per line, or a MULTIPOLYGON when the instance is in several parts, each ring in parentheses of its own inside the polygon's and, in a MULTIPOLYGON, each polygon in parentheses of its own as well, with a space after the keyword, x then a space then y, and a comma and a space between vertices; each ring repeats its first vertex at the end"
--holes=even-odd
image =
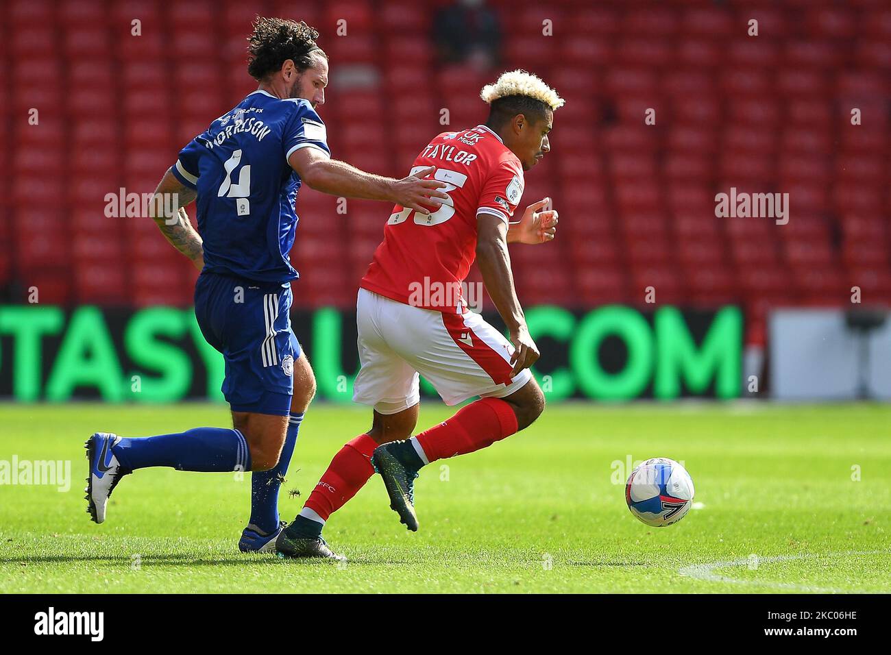
MULTIPOLYGON (((96 523, 105 520, 120 479, 137 469, 253 471, 250 519, 239 548, 274 552, 282 529, 279 487, 315 394, 315 377, 289 316, 290 282, 298 278, 288 256, 298 189, 306 183, 423 213, 423 205, 436 207, 437 199, 448 198, 437 191, 445 184, 422 179, 432 168, 396 180, 331 160, 315 112, 328 83, 328 57, 315 45, 318 36, 303 22, 257 18, 248 48, 257 91, 186 145, 155 192, 156 199, 178 199, 180 209, 172 215, 159 209, 152 217, 201 271, 195 316, 204 338, 225 358, 223 393, 233 427, 145 438, 96 432, 86 442, 86 499, 96 523), (182 209, 196 199, 197 233, 182 209)), ((303 545, 304 555, 332 556, 321 538, 303 545)))

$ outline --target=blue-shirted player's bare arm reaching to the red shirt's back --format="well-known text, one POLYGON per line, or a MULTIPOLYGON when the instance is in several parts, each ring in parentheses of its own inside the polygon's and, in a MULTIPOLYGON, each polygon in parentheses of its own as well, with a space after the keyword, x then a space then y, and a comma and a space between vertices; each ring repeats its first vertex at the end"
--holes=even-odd
POLYGON ((437 191, 446 186, 445 182, 423 179, 436 170, 434 167, 397 180, 365 173, 345 161, 331 160, 317 148, 293 151, 288 163, 311 188, 331 195, 393 202, 422 214, 429 214, 430 206, 436 208, 440 199, 448 198, 446 193, 437 191))

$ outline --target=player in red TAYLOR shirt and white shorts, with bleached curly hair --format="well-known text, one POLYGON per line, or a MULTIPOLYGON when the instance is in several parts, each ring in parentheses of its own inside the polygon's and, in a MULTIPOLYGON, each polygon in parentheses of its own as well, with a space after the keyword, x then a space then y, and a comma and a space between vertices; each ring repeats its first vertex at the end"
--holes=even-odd
POLYGON ((523 194, 523 171, 551 149, 553 111, 563 100, 522 70, 504 73, 480 96, 490 105, 485 125, 437 135, 414 160, 413 172, 436 167, 429 175, 447 184, 441 191, 448 200, 429 214, 396 205, 360 284, 362 368, 353 399, 373 405, 372 429, 335 455, 282 530, 278 553, 340 559, 324 543, 322 528, 374 471, 400 520, 417 530, 413 482, 422 466, 491 446, 544 411, 544 394, 529 370, 538 348, 514 291, 507 244, 554 237, 557 212, 543 210, 549 199, 528 206, 516 223, 511 218, 523 194), (462 295, 474 259, 510 340, 470 311, 462 295), (479 398, 412 437, 419 373, 447 405, 479 398))

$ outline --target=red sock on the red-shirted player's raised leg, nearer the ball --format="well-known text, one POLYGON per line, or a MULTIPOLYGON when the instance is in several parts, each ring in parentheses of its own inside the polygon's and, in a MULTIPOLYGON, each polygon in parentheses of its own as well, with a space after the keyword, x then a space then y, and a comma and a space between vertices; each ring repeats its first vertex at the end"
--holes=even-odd
POLYGON ((428 462, 472 453, 517 431, 517 415, 501 398, 480 398, 446 422, 424 430, 418 443, 428 462))

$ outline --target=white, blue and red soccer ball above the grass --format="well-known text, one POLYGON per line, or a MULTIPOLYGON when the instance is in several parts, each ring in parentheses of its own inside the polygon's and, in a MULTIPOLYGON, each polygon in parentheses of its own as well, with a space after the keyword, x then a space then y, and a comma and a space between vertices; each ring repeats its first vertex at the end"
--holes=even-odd
POLYGON ((674 460, 653 457, 631 471, 625 484, 625 502, 631 513, 648 526, 670 526, 690 510, 693 479, 674 460))

